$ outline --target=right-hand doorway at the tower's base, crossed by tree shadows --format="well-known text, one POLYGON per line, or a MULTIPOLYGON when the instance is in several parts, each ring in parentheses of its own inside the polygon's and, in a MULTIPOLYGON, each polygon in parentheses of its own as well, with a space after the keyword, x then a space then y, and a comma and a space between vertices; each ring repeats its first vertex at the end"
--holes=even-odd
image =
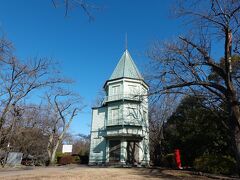
POLYGON ((139 163, 139 142, 127 142, 127 162, 129 164, 139 163))

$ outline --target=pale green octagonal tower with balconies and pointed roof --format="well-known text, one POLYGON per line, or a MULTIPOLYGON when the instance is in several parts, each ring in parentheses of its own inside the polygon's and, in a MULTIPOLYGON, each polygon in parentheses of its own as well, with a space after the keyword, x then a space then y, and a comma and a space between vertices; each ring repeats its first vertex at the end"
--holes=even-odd
POLYGON ((126 50, 93 108, 89 164, 149 164, 148 85, 126 50))

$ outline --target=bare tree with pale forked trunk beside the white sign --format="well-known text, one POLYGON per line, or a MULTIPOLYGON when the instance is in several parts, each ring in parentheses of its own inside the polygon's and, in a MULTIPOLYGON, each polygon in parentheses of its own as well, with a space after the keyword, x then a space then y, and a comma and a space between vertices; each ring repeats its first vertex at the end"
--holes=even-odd
POLYGON ((52 95, 47 95, 48 131, 48 156, 50 164, 55 163, 55 156, 64 135, 68 131, 73 119, 83 108, 79 96, 69 91, 60 90, 52 95))

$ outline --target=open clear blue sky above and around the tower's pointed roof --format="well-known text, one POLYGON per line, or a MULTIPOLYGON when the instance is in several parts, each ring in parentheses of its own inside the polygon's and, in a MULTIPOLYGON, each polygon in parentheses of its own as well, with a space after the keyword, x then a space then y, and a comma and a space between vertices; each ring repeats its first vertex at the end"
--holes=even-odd
POLYGON ((88 106, 72 123, 72 133, 89 134, 91 105, 110 77, 125 48, 144 72, 145 51, 154 40, 167 40, 184 32, 180 20, 170 18, 173 0, 91 1, 101 10, 95 20, 81 9, 68 17, 64 8, 55 9, 51 0, 0 0, 0 28, 15 45, 15 54, 51 57, 62 73, 75 80, 71 87, 88 106))

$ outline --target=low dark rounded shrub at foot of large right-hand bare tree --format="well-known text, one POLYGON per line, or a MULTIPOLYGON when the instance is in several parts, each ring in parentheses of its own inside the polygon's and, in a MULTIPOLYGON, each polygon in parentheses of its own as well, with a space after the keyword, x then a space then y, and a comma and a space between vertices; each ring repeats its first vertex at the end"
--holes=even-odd
POLYGON ((203 155, 195 159, 194 168, 203 172, 230 175, 236 172, 236 161, 230 156, 203 155))

